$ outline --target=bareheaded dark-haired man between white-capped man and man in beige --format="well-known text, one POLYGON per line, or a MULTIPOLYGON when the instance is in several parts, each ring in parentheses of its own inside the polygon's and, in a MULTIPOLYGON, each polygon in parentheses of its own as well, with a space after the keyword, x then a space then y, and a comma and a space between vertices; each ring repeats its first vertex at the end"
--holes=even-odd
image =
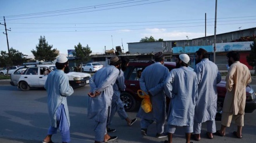
POLYGON ((194 140, 201 140, 201 124, 207 123, 207 137, 214 138, 216 132, 215 115, 217 111, 217 84, 221 73, 216 64, 208 59, 208 52, 200 48, 195 52, 195 68, 198 79, 198 100, 195 105, 194 140))

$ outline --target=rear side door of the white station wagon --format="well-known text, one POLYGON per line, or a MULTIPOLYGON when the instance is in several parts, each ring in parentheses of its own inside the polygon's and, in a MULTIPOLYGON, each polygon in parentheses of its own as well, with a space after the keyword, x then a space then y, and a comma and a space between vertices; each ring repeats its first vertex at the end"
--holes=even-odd
POLYGON ((24 80, 27 82, 27 84, 31 87, 39 86, 39 79, 40 79, 40 68, 38 67, 30 67, 27 69, 27 72, 24 76, 24 80))

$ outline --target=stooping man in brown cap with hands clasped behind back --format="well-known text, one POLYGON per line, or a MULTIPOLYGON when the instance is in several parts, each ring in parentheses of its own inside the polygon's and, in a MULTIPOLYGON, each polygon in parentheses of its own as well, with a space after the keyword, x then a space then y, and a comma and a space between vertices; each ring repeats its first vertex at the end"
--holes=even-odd
POLYGON ((99 69, 90 78, 90 93, 88 93, 88 118, 95 120, 95 143, 116 140, 109 136, 106 123, 111 110, 113 85, 119 75, 121 61, 117 56, 111 57, 110 65, 99 69))

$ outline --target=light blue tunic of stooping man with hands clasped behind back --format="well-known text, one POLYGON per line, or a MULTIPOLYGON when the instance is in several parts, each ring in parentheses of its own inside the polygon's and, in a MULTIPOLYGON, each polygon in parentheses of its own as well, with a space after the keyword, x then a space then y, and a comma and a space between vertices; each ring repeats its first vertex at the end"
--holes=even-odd
POLYGON ((113 96, 113 85, 118 77, 119 70, 113 65, 108 65, 99 69, 90 78, 91 93, 101 91, 97 97, 89 97, 88 99, 88 118, 97 122, 106 122, 108 116, 108 108, 111 107, 113 96))

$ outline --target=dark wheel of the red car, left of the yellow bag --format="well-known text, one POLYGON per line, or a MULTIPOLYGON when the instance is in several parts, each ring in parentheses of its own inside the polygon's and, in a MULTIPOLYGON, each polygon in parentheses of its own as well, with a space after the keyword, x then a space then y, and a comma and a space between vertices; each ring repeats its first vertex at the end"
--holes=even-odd
POLYGON ((123 107, 125 108, 125 111, 134 111, 137 107, 137 102, 134 99, 133 96, 129 93, 121 93, 120 99, 123 102, 123 107))

